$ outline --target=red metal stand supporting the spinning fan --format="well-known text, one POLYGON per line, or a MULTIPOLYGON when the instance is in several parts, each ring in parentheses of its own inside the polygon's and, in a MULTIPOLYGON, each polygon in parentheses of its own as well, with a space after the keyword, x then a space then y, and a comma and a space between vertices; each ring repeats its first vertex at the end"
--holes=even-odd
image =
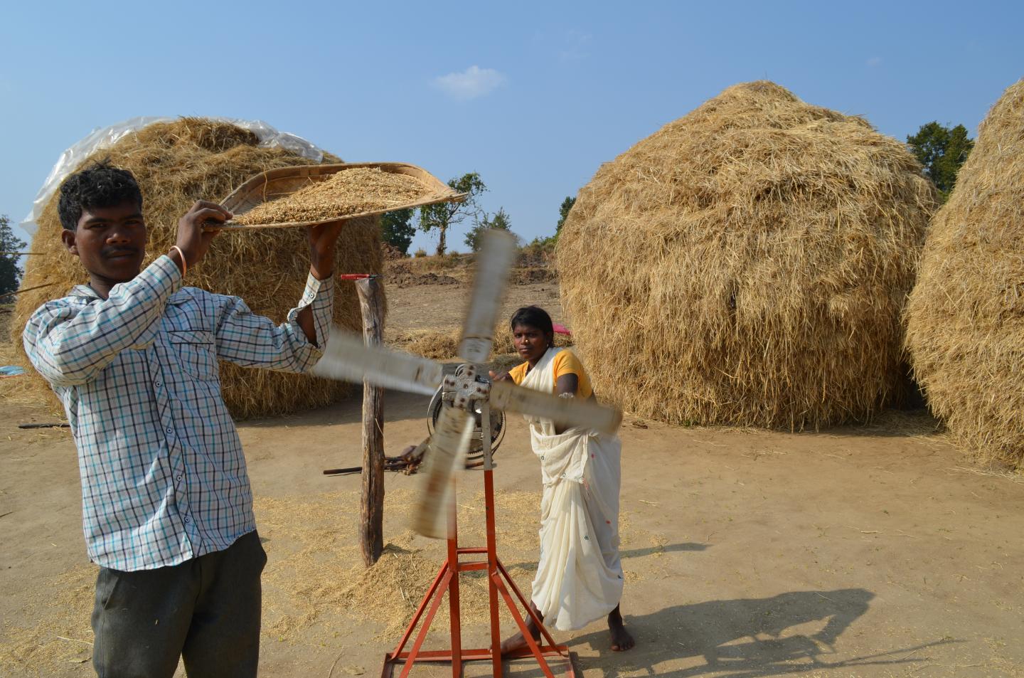
MULTIPOLYGON (((482 425, 480 428, 482 431, 490 431, 489 412, 485 406, 482 412, 482 425)), ((548 665, 548 660, 563 660, 566 667, 563 675, 566 678, 575 677, 568 647, 566 645, 555 644, 551 634, 534 612, 529 601, 522 595, 519 588, 515 585, 515 582, 512 581, 512 578, 509 576, 508 570, 505 569, 505 565, 503 565, 498 559, 497 539, 495 533, 494 464, 490 458, 489 435, 484 435, 483 437, 483 494, 484 505, 486 507, 487 545, 483 548, 459 546, 456 508, 455 502, 453 502, 451 516, 449 519, 447 558, 445 558, 443 564, 441 564, 440 570, 434 579, 434 583, 430 585, 429 589, 427 589, 427 593, 423 597, 423 601, 420 602, 420 606, 413 616, 412 622, 409 623, 409 627, 406 629, 406 633, 402 635, 401 640, 399 640, 398 644, 395 646, 394 651, 388 652, 384 655, 384 668, 381 671, 382 678, 391 678, 394 675, 393 672, 397 666, 401 666, 401 673, 398 678, 407 678, 413 670, 413 666, 415 666, 417 662, 451 663, 453 678, 460 678, 462 676, 462 667, 465 662, 479 662, 486 660, 490 660, 492 662, 492 675, 496 678, 501 678, 503 675, 503 667, 501 653, 502 632, 498 602, 499 596, 501 596, 502 600, 504 600, 505 604, 508 606, 509 611, 512 613, 512 619, 515 620, 519 632, 522 633, 523 638, 526 639, 527 645, 517 652, 506 655, 505 659, 511 660, 532 656, 537 660, 537 663, 540 665, 546 678, 554 678, 551 667, 548 665), (479 555, 485 555, 486 559, 466 559, 465 561, 461 559, 461 556, 472 557, 479 555), (490 647, 466 649, 462 647, 462 627, 459 620, 459 574, 478 569, 487 570, 487 595, 490 603, 490 647), (427 632, 430 630, 430 624, 433 622, 434 616, 437 613, 437 609, 440 607, 445 593, 449 595, 452 647, 451 649, 424 650, 423 641, 427 637, 427 632), (516 604, 516 600, 512 598, 513 593, 518 600, 518 605, 516 604), (526 622, 523 619, 522 612, 519 610, 519 605, 526 610, 526 615, 529 615, 534 624, 538 629, 540 629, 541 638, 543 641, 546 641, 547 644, 539 644, 536 640, 534 640, 534 637, 526 629, 526 622), (424 611, 426 611, 425 617, 424 611), (422 625, 420 625, 421 620, 423 621, 422 625), (413 641, 413 647, 409 651, 406 651, 406 644, 409 642, 410 638, 413 637, 413 632, 416 631, 417 626, 420 626, 420 630, 416 634, 416 638, 413 641)))

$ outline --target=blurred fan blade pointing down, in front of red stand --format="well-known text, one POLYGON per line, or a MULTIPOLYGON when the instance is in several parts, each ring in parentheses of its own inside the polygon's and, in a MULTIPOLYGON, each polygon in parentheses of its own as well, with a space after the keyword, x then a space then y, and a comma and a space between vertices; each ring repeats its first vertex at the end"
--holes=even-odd
POLYGON ((466 465, 466 450, 473 435, 473 418, 465 410, 444 406, 430 437, 426 455, 426 480, 413 518, 413 529, 425 537, 444 539, 455 501, 452 478, 466 465))

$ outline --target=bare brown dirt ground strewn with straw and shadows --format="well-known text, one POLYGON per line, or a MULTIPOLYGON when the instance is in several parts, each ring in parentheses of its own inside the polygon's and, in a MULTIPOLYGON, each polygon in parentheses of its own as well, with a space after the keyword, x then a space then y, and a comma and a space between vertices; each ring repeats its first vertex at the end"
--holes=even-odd
MULTIPOLYGON (((467 290, 389 288, 389 327, 454 328, 467 290)), ((516 286, 506 307, 523 303, 560 316, 556 284, 516 286)), ((425 434, 425 408, 388 394, 388 454, 425 434)), ((46 421, 44 407, 0 402, 3 678, 91 675, 95 570, 74 444, 59 429, 16 427, 46 421)), ((269 554, 261 675, 378 675, 443 557, 408 528, 422 478, 389 474, 388 546, 372 570, 359 564, 359 478, 322 474, 359 463, 359 421, 353 399, 240 425, 269 554)), ((600 623, 555 632, 578 675, 1024 676, 1024 477, 973 466, 927 412, 800 434, 627 416, 622 439, 623 611, 638 644, 611 652, 600 623)), ((541 486, 520 418, 497 458, 499 553, 528 591, 541 486)), ((464 474, 464 543, 482 545, 481 489, 480 473, 464 474)), ((478 578, 464 595, 464 644, 485 646, 478 578)))

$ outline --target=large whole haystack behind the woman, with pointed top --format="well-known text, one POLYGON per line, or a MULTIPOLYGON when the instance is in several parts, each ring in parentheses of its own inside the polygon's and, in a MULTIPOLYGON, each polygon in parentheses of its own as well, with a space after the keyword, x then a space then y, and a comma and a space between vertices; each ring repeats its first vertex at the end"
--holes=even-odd
POLYGON ((599 394, 679 424, 817 427, 901 390, 936 193, 906 147, 770 82, 601 166, 558 242, 599 394))

